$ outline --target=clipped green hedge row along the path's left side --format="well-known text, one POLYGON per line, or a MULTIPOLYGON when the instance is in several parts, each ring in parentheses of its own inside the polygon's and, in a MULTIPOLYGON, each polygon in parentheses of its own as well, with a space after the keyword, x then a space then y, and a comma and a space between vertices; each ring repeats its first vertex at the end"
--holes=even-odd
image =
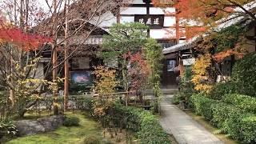
POLYGON ((170 143, 168 134, 162 129, 158 118, 151 114, 150 111, 115 103, 111 113, 115 117, 126 118, 126 126, 132 127, 132 130, 138 134, 138 138, 142 143, 170 143))

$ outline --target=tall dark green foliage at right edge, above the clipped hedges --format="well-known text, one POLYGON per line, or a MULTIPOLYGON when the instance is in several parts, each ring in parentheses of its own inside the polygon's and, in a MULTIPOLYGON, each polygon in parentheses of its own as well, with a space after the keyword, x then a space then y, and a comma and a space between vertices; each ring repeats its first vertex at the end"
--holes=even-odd
POLYGON ((256 53, 247 54, 244 58, 235 63, 232 79, 239 82, 240 94, 256 97, 256 53))

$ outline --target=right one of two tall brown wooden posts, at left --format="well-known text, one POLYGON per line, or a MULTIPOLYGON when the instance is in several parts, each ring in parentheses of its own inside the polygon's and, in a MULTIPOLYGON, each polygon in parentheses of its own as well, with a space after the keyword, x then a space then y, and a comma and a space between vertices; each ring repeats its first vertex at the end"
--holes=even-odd
MULTIPOLYGON (((67 2, 66 6, 66 21, 65 21, 65 39, 68 37, 68 10, 69 10, 70 0, 67 2)), ((69 100, 69 79, 70 79, 70 71, 69 71, 69 59, 68 57, 68 42, 65 40, 65 50, 64 50, 64 59, 66 59, 64 63, 65 70, 65 81, 64 81, 64 112, 68 109, 68 100, 69 100)))

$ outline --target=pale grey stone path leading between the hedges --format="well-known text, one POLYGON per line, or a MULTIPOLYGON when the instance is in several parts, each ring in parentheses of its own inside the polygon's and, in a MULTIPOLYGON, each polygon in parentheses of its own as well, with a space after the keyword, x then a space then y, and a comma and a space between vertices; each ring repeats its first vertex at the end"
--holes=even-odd
POLYGON ((161 125, 168 134, 173 134, 179 144, 214 144, 221 142, 189 115, 170 103, 172 95, 161 102, 161 125))

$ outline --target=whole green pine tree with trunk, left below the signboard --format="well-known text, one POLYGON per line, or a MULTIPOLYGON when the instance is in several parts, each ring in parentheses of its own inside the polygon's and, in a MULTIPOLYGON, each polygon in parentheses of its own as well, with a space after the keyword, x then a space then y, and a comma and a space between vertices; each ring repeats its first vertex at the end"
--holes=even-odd
POLYGON ((111 26, 110 35, 104 36, 102 51, 98 55, 106 62, 118 61, 119 66, 121 66, 120 72, 122 72, 122 74, 117 74, 120 78, 118 81, 125 91, 128 90, 129 86, 127 78, 129 58, 126 58, 126 54, 136 54, 142 51, 147 39, 147 29, 147 26, 138 22, 118 23, 111 26))

